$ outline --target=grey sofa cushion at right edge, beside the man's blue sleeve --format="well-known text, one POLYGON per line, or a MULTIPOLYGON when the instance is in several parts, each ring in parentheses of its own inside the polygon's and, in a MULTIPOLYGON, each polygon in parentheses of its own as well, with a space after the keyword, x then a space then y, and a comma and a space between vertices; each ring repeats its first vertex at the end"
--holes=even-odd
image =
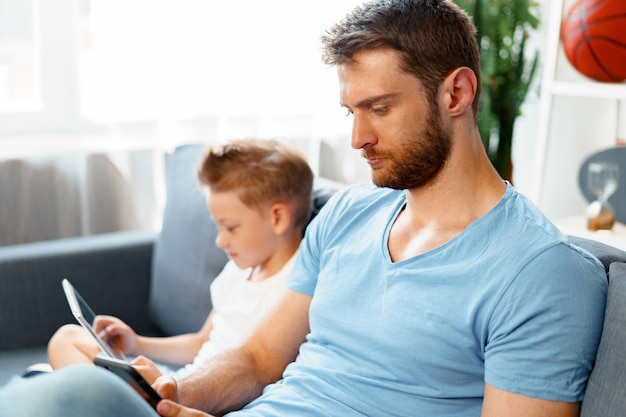
POLYGON ((626 413, 626 264, 609 267, 604 328, 596 363, 583 398, 581 417, 626 413))

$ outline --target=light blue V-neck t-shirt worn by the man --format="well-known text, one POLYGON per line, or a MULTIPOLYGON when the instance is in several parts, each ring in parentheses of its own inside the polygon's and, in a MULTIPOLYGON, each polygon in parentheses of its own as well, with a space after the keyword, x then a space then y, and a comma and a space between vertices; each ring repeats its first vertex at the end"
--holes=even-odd
POLYGON ((510 185, 454 239, 392 262, 404 205, 403 191, 353 186, 314 220, 288 283, 313 296, 311 332, 243 415, 479 416, 485 382, 582 398, 604 316, 600 262, 510 185))

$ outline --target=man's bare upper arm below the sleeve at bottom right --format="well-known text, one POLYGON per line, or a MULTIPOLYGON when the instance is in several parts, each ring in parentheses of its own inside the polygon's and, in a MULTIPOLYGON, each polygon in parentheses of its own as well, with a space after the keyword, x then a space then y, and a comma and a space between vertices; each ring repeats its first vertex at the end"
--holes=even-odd
POLYGON ((548 401, 485 384, 481 417, 578 417, 580 403, 548 401))

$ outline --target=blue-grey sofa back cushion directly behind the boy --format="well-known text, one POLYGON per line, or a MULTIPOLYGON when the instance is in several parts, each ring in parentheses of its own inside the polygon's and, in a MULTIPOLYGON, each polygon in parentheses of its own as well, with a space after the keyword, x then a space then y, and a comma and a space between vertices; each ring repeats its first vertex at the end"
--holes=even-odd
MULTIPOLYGON (((228 260, 215 245, 217 228, 198 185, 204 148, 179 146, 168 162, 167 198, 154 247, 149 298, 151 319, 166 335, 196 332, 202 326, 212 309, 211 282, 228 260)), ((342 186, 315 179, 310 219, 342 186)))

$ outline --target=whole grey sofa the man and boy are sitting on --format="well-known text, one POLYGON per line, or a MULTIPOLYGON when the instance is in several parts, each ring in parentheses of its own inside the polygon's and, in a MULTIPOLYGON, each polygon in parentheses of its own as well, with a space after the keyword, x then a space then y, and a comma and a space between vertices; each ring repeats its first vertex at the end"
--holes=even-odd
MULTIPOLYGON (((118 232, 0 247, 0 385, 45 362, 45 344, 74 322, 61 289, 68 278, 99 313, 143 334, 197 330, 211 309, 209 285, 226 257, 197 186, 201 145, 176 149, 168 163, 160 233, 118 232)), ((312 216, 340 184, 317 179, 312 216)), ((626 253, 573 237, 607 269, 604 330, 582 416, 626 414, 626 253)))

